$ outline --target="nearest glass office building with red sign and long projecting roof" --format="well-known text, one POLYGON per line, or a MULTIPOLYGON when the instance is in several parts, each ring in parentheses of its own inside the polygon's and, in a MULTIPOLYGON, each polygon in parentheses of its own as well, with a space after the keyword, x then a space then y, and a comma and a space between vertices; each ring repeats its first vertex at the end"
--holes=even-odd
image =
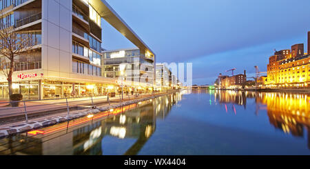
MULTIPOLYGON (((139 50, 155 56, 104 0, 0 0, 1 23, 32 37, 32 51, 16 57, 13 89, 24 99, 105 95, 117 78, 102 70, 101 19, 139 50)), ((155 58, 155 57, 154 57, 155 58)), ((1 58, 1 64, 7 64, 1 58)), ((112 86, 112 87, 111 87, 112 86)), ((0 99, 8 98, 0 76, 0 99)))

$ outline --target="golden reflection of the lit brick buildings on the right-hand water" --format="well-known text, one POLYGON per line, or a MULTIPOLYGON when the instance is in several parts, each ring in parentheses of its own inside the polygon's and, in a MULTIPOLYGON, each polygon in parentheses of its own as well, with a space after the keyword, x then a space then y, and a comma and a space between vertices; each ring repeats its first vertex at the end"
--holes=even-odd
MULTIPOLYGON (((201 92, 201 91, 200 91, 201 92)), ((205 91, 208 92, 209 91, 205 91)), ((294 137, 304 137, 307 131, 308 148, 310 149, 310 96, 309 94, 280 93, 280 92, 241 92, 215 90, 214 98, 219 103, 232 106, 247 107, 247 100, 255 99, 256 110, 267 110, 269 123, 275 128, 291 134, 294 137)), ((234 109, 236 113, 236 109, 234 109)))

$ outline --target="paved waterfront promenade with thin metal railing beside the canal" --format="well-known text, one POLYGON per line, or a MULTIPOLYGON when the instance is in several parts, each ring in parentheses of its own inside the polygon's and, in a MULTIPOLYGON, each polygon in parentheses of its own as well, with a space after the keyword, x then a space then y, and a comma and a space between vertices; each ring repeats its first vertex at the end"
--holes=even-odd
POLYGON ((36 114, 40 112, 49 111, 67 111, 67 115, 70 115, 70 108, 96 108, 103 104, 118 103, 122 101, 129 101, 132 99, 142 99, 144 97, 152 97, 155 95, 168 94, 174 92, 174 90, 167 90, 165 92, 145 92, 141 93, 123 93, 123 99, 121 94, 115 95, 115 97, 109 97, 108 95, 103 97, 74 97, 74 98, 62 98, 62 99, 44 99, 44 100, 27 100, 27 101, 6 101, 0 102, 0 118, 3 117, 17 117, 25 115, 25 121, 28 122, 28 115, 36 114), (47 103, 44 103, 47 102, 47 103), (17 107, 10 107, 15 105, 17 107))

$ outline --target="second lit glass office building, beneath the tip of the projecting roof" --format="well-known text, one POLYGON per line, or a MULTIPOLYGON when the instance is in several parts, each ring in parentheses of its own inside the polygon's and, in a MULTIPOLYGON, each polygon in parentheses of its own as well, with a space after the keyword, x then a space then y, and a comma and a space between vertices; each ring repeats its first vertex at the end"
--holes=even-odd
POLYGON ((152 90, 154 87, 154 54, 138 48, 103 51, 103 77, 123 78, 126 87, 152 90), (122 68, 123 65, 123 68, 122 68))

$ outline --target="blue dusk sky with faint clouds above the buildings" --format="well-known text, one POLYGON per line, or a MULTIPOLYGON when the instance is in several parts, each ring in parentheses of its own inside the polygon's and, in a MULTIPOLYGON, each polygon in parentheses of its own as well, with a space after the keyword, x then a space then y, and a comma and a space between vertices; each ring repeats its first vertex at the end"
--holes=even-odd
MULTIPOLYGON (((304 43, 309 0, 107 0, 156 54, 156 62, 193 63, 193 83, 212 84, 237 68, 267 71, 273 49, 304 43)), ((134 45, 103 21, 103 48, 134 45)))

